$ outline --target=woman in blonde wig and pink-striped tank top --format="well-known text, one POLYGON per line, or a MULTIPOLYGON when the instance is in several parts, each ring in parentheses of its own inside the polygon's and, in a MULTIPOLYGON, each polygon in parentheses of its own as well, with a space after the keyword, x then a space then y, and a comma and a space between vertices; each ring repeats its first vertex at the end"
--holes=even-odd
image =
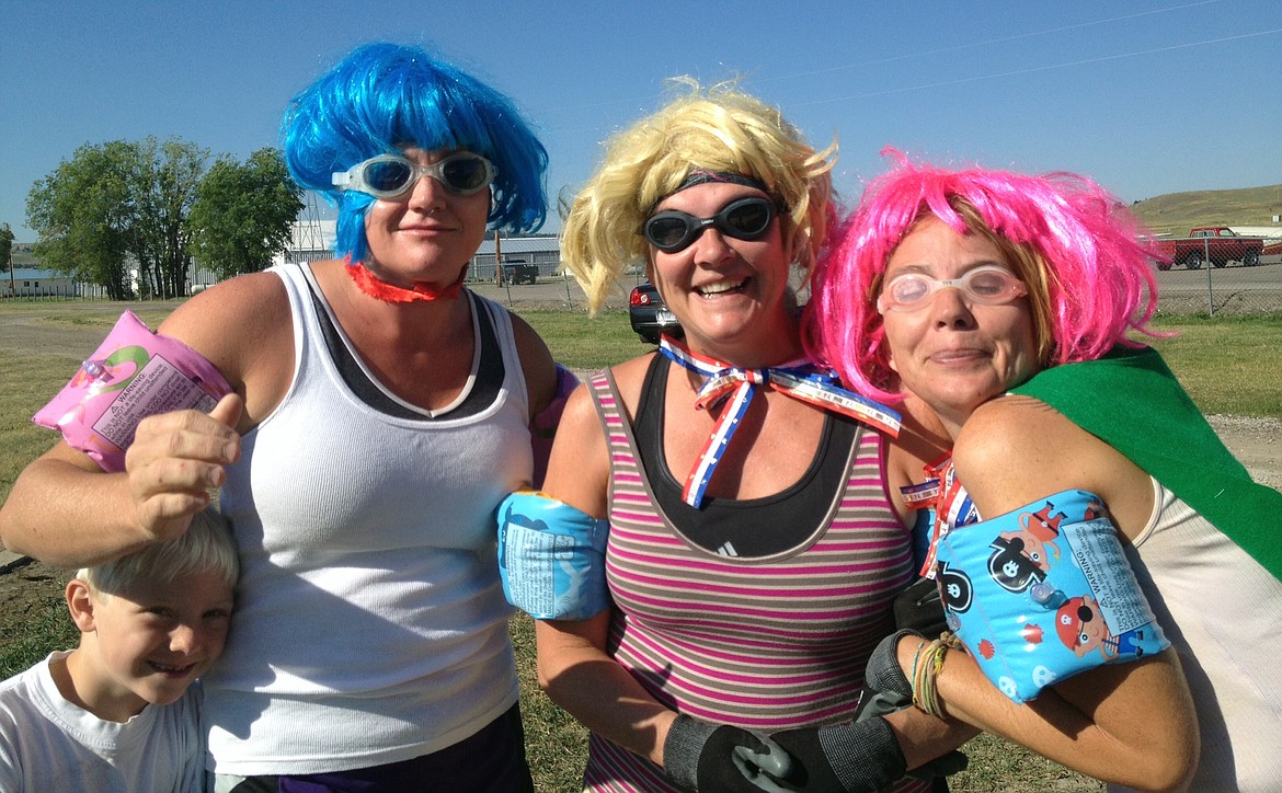
POLYGON ((609 597, 537 633, 542 687, 592 732, 590 790, 877 789, 970 734, 851 724, 912 515, 882 473, 894 414, 801 348, 790 274, 828 227, 835 150, 695 88, 615 137, 569 208, 591 307, 641 263, 685 332, 570 397, 545 484, 608 521, 609 597))

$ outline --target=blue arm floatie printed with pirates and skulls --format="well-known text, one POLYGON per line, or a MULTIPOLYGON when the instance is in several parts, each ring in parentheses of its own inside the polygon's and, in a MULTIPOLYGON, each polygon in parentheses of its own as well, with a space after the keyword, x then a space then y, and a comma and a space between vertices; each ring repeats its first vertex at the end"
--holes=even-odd
POLYGON ((949 530, 936 579, 949 626, 1015 702, 1170 644, 1103 501, 1086 491, 949 530))

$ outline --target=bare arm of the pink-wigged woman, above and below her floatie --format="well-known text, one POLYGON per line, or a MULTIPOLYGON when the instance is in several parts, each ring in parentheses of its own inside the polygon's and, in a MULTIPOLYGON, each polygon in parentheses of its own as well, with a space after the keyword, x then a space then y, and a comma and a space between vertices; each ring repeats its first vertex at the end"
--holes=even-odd
MULTIPOLYGON (((1036 400, 1006 397, 977 410, 958 436, 954 464, 981 515, 1079 488, 1104 500, 1127 542, 1153 511, 1147 474, 1036 400)), ((917 643, 897 651, 910 669, 917 643)), ((1197 765, 1196 714, 1173 650, 1092 669, 1023 706, 960 652, 947 653, 937 685, 946 715, 1106 781, 1178 788, 1197 765)))

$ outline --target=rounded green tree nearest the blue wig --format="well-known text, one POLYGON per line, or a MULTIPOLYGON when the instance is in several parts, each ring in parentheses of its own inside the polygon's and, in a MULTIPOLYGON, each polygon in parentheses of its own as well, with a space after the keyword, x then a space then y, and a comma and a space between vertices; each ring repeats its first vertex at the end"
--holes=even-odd
POLYGON ((187 218, 196 261, 219 278, 267 269, 290 241, 301 196, 274 149, 259 149, 244 164, 219 158, 187 218))

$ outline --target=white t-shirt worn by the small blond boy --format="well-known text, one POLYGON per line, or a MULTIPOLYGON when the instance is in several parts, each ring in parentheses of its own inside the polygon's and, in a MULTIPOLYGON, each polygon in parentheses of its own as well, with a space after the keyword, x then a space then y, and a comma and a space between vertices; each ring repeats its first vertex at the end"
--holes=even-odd
POLYGON ((124 724, 104 721, 58 691, 54 652, 0 683, 4 793, 191 793, 204 790, 200 683, 173 705, 149 705, 124 724))

